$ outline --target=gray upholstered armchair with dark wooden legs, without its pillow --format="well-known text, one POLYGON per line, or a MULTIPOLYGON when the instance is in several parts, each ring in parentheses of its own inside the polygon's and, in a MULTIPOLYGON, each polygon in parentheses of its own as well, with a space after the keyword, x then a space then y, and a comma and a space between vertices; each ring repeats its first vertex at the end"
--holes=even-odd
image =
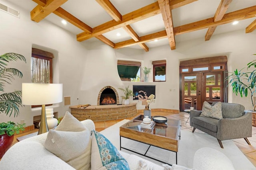
POLYGON ((202 111, 191 110, 190 126, 194 127, 192 132, 199 129, 216 137, 221 148, 221 141, 228 139, 244 138, 248 145, 251 145, 247 137, 252 137, 252 113, 245 112, 244 106, 240 104, 222 103, 221 107, 222 119, 202 117, 202 111))

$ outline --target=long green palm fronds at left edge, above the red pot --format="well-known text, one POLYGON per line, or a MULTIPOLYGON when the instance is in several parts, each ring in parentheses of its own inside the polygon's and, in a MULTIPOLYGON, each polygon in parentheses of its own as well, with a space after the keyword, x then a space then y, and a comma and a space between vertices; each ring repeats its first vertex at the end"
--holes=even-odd
MULTIPOLYGON (((21 60, 26 63, 26 59, 23 55, 16 53, 6 53, 0 55, 0 91, 4 92, 4 84, 11 84, 15 76, 19 78, 23 77, 22 72, 16 68, 7 68, 10 61, 21 60)), ((22 92, 15 91, 11 93, 0 94, 0 113, 5 113, 9 116, 14 112, 14 117, 19 114, 19 107, 22 105, 22 92)))

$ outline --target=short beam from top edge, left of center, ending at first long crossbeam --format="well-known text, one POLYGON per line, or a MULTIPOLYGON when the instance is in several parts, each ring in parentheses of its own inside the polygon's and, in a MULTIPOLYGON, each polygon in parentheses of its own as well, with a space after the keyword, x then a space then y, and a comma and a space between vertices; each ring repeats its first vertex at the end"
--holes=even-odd
POLYGON ((100 6, 117 22, 122 21, 122 15, 110 0, 96 0, 100 6))

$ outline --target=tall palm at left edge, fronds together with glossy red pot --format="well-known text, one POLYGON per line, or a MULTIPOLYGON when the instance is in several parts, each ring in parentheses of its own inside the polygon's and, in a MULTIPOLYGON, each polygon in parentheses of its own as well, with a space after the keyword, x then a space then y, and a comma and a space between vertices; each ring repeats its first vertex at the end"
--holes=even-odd
MULTIPOLYGON (((19 107, 22 106, 22 92, 21 90, 17 90, 10 93, 4 93, 5 84, 11 84, 12 80, 14 80, 14 76, 18 76, 22 78, 22 72, 16 68, 7 68, 10 61, 21 60, 26 62, 24 56, 16 53, 6 53, 4 55, 0 55, 0 113, 4 113, 9 115, 9 117, 14 113, 14 117, 17 117, 19 114, 19 107)), ((12 145, 12 141, 14 138, 14 133, 19 133, 20 130, 24 130, 25 124, 18 124, 12 121, 8 121, 7 123, 0 123, 0 158, 4 155, 4 153, 10 148, 12 145)))

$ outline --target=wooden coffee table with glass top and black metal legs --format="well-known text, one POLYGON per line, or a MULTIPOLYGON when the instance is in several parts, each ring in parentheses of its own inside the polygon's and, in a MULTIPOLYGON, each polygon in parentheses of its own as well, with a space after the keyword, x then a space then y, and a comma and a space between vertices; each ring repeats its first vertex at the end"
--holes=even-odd
MULTIPOLYGON (((172 152, 176 152, 176 164, 177 164, 177 152, 180 141, 180 120, 178 119, 168 119, 166 123, 156 123, 154 129, 146 129, 142 130, 140 128, 140 123, 142 122, 143 115, 140 115, 131 121, 128 121, 124 125, 120 127, 120 150, 126 149, 131 152, 135 152, 133 150, 122 147, 121 137, 128 138, 134 141, 146 143, 150 146, 159 147, 162 149, 170 150, 172 152)), ((147 149, 147 151, 148 151, 147 149)), ((146 153, 147 153, 146 151, 146 153)), ((145 154, 141 154, 135 152, 137 154, 146 156, 145 154)), ((152 158, 146 156, 148 158, 152 158)), ((152 158, 162 163, 169 164, 167 162, 163 162, 161 160, 152 158)), ((171 165, 171 164, 170 164, 171 165)))

